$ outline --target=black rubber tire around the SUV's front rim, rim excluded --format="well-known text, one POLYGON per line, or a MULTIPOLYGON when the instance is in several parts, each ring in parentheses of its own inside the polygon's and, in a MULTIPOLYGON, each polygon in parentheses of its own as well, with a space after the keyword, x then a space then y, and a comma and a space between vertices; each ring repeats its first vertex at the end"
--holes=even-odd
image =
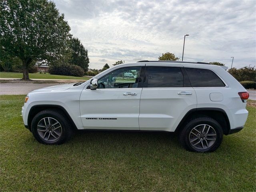
MULTIPOLYGON (((69 140, 70 137, 72 136, 72 125, 71 125, 70 121, 68 120, 68 117, 62 111, 60 111, 60 110, 43 110, 43 111, 39 112, 38 114, 36 114, 34 116, 34 118, 32 119, 31 131, 32 131, 33 136, 40 143, 48 144, 48 145, 62 144, 64 142, 66 142, 67 140, 69 140), (40 136, 40 131, 38 131, 38 123, 43 118, 47 118, 47 117, 58 121, 61 126, 60 136, 57 136, 55 134, 55 136, 59 137, 58 140, 54 140, 54 141, 49 140, 48 141, 46 139, 43 139, 42 136, 40 136)), ((55 139, 55 138, 53 138, 53 139, 55 139)))

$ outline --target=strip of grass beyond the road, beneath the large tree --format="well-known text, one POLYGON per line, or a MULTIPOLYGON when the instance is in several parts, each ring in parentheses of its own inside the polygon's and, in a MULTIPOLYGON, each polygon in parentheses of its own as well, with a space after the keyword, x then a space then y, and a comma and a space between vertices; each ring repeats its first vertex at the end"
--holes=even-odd
MULTIPOLYGON (((0 72, 0 78, 22 78, 22 73, 14 72, 0 72)), ((74 77, 74 76, 64 76, 64 75, 50 75, 50 74, 40 74, 40 73, 30 73, 30 79, 82 79, 88 80, 88 77, 74 77)))

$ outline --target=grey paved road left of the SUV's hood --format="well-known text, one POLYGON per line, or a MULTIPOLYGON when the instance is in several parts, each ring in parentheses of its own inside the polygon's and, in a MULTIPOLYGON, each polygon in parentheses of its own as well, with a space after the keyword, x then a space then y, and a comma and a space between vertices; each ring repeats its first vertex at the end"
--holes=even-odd
POLYGON ((55 83, 0 83, 0 95, 22 95, 28 92, 43 88, 59 85, 55 83))

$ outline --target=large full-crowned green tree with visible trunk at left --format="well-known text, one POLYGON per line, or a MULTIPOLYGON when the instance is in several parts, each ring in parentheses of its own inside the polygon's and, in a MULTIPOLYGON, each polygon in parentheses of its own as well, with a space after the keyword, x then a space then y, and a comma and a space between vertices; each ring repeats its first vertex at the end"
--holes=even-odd
POLYGON ((32 62, 57 57, 70 37, 70 27, 54 2, 47 0, 0 1, 1 57, 22 60, 23 80, 29 80, 32 62))

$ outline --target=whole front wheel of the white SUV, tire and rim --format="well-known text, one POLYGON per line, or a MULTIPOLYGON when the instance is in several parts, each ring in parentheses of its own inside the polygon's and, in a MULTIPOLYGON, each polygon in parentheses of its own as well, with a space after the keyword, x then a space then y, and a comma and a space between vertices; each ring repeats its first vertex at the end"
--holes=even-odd
POLYGON ((72 134, 68 118, 59 110, 43 110, 31 123, 32 134, 43 144, 62 144, 72 134))

